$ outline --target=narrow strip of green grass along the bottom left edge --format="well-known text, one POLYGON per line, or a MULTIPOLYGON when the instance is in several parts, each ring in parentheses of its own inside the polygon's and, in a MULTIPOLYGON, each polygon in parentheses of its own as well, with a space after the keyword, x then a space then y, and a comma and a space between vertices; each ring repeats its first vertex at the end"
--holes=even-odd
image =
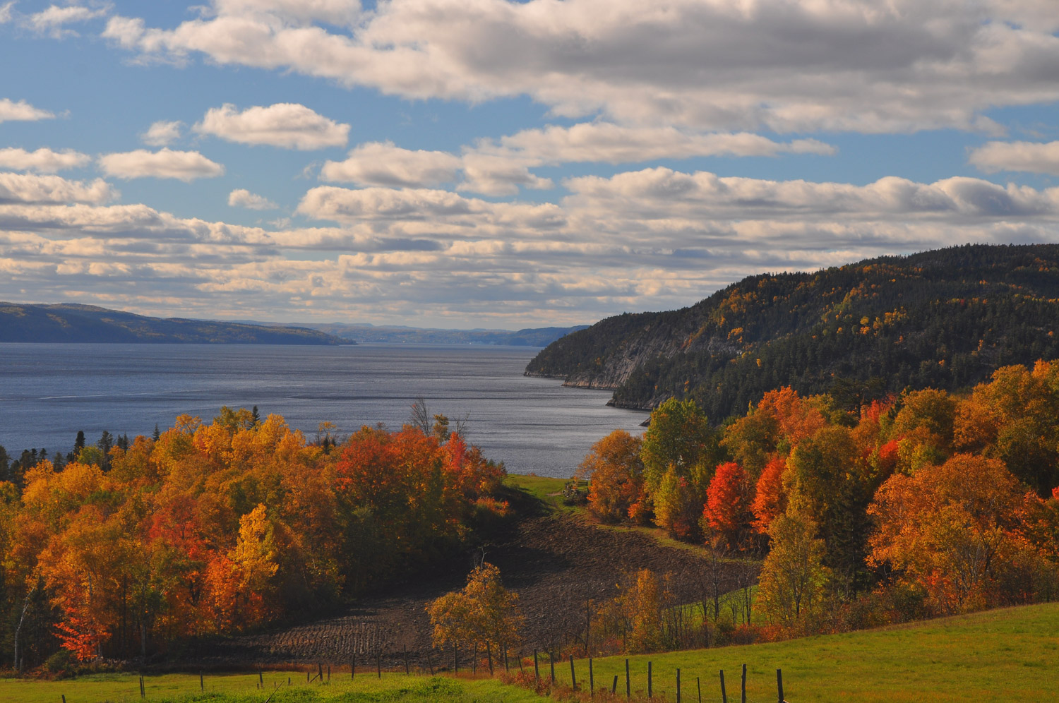
MULTIPOLYGON (((326 685, 305 683, 304 671, 266 671, 265 687, 257 687, 255 673, 145 675, 147 703, 264 703, 279 685, 271 703, 530 703, 540 698, 528 690, 505 686, 489 679, 406 677, 403 673, 357 674, 351 682, 333 675, 326 685), (291 685, 287 686, 290 677, 291 685)), ((140 703, 140 684, 134 673, 108 673, 64 681, 0 680, 0 701, 11 703, 140 703)))

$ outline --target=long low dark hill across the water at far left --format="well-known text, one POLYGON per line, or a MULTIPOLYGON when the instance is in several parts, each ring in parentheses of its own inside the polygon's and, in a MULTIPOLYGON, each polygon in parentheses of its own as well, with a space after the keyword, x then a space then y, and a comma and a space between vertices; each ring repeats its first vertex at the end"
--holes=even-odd
POLYGON ((305 327, 148 318, 92 305, 0 303, 0 342, 355 344, 305 327))

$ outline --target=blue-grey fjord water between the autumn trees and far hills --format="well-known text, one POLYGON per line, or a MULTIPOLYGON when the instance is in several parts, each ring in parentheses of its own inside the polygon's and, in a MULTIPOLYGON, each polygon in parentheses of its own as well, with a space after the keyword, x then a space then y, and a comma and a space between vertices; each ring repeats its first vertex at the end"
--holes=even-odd
POLYGON ((347 434, 397 429, 417 396, 431 413, 469 415, 468 438, 508 471, 569 476, 593 441, 643 413, 606 391, 527 378, 531 347, 362 344, 0 344, 0 445, 67 452, 77 430, 149 435, 181 413, 221 405, 283 415, 311 440, 321 421, 347 434))

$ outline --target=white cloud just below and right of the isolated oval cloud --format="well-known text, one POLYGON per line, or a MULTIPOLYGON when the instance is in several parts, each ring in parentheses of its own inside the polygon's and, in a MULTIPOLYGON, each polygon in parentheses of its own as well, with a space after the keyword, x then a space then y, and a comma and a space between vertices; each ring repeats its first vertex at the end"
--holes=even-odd
POLYGON ((351 150, 345 161, 325 163, 320 177, 361 185, 438 185, 455 181, 461 164, 460 157, 445 151, 412 151, 392 142, 369 142, 351 150))

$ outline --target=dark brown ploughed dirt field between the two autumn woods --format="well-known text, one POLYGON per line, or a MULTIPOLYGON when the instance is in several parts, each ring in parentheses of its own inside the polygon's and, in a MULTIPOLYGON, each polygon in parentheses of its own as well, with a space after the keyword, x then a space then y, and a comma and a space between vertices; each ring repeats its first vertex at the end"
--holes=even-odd
MULTIPOLYGON (((548 511, 524 494, 514 507, 519 519, 484 547, 484 557, 500 567, 505 585, 519 594, 528 650, 546 650, 582 633, 586 601, 612 597, 625 572, 671 573, 676 588, 687 594, 697 593, 703 581, 704 562, 694 551, 662 546, 632 529, 602 528, 584 517, 548 511)), ((462 588, 481 556, 475 551, 391 584, 341 616, 215 643, 196 659, 213 665, 329 662, 344 668, 356 657, 358 668, 367 668, 376 665, 376 652, 381 651, 382 667, 395 668, 403 666, 407 648, 413 664, 427 667, 426 603, 462 588)), ((723 578, 723 591, 735 588, 734 574, 723 578)), ((432 656, 438 657, 432 660, 435 667, 451 664, 451 652, 444 662, 438 652, 432 656)))

